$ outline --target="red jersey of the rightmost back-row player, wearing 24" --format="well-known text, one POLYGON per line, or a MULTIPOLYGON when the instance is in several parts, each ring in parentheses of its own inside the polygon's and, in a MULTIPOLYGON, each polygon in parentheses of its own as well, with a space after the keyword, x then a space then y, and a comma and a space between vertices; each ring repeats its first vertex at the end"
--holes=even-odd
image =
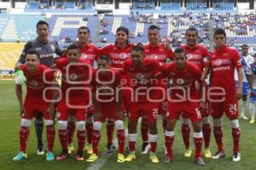
POLYGON ((214 50, 211 54, 211 86, 224 88, 226 92, 236 92, 235 68, 242 68, 236 49, 224 46, 220 50, 214 50))

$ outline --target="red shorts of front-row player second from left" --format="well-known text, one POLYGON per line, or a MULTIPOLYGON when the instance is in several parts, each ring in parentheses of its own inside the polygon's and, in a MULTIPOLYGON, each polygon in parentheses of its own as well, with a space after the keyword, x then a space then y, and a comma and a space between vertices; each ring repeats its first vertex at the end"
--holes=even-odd
MULTIPOLYGON (((76 105, 79 105, 79 103, 77 103, 76 105)), ((84 104, 79 105, 79 107, 82 107, 82 105, 84 104)), ((58 120, 67 121, 69 115, 74 115, 77 121, 85 121, 87 115, 86 111, 87 108, 85 107, 85 105, 83 108, 70 108, 67 106, 66 101, 61 100, 57 107, 58 120)))

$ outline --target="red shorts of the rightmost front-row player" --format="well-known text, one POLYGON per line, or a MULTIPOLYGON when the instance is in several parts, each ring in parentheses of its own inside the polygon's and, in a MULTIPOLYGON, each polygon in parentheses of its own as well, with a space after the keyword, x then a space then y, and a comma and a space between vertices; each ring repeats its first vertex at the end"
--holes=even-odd
POLYGON ((201 112, 198 106, 199 103, 196 102, 170 102, 166 117, 168 119, 178 119, 183 114, 183 117, 189 118, 191 122, 201 122, 201 112))

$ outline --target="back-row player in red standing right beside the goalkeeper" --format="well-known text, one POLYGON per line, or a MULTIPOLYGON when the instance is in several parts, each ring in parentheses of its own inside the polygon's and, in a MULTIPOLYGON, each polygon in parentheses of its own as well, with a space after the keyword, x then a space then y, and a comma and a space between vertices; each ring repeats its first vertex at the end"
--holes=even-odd
MULTIPOLYGON (((90 29, 86 26, 79 27, 78 30, 78 38, 79 41, 75 42, 79 46, 81 51, 81 58, 87 60, 91 66, 94 65, 97 55, 99 54, 99 48, 96 48, 93 44, 89 42, 90 38, 90 29)), ((65 55, 66 57, 66 55, 65 55)), ((87 111, 86 118, 86 132, 87 132, 87 143, 85 146, 85 150, 88 154, 92 154, 92 146, 91 146, 91 135, 93 129, 93 115, 94 115, 93 105, 87 111)), ((75 117, 73 115, 69 116, 67 122, 67 131, 68 131, 68 153, 72 153, 74 151, 73 148, 73 133, 75 130, 75 117)))

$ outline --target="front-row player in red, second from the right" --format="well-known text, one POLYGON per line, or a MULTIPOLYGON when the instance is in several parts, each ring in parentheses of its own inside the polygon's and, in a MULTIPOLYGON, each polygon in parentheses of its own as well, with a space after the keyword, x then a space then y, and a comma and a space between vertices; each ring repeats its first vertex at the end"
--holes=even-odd
POLYGON ((160 71, 160 64, 155 59, 145 59, 143 45, 131 48, 131 59, 124 63, 124 77, 126 80, 123 89, 124 99, 130 111, 129 116, 129 155, 125 161, 133 161, 135 156, 135 144, 137 141, 137 121, 139 116, 148 116, 149 142, 151 147, 150 161, 158 163, 156 153, 157 146, 157 110, 159 102, 159 90, 154 74, 160 71))

